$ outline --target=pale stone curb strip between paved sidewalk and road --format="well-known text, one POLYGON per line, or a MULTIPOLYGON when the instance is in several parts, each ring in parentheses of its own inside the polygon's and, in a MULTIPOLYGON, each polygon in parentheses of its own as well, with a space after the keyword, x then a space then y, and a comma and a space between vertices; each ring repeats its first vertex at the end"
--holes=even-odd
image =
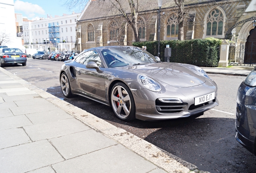
POLYGON ((135 135, 125 131, 124 129, 120 129, 110 123, 100 119, 83 109, 75 107, 66 101, 63 101, 42 89, 35 87, 34 85, 30 84, 29 82, 15 76, 14 74, 4 70, 0 67, 0 71, 4 72, 6 75, 10 76, 14 80, 21 83, 24 87, 27 87, 31 91, 37 93, 42 98, 46 99, 50 103, 56 105, 60 109, 66 111, 76 119, 82 121, 92 129, 102 133, 103 135, 113 139, 114 141, 120 143, 130 151, 144 157, 146 160, 150 161, 151 163, 155 164, 156 166, 162 168, 163 170, 173 173, 190 173, 190 172, 200 172, 206 173, 205 171, 198 171, 198 168, 188 163, 163 149, 156 147, 155 145, 136 137, 135 135))

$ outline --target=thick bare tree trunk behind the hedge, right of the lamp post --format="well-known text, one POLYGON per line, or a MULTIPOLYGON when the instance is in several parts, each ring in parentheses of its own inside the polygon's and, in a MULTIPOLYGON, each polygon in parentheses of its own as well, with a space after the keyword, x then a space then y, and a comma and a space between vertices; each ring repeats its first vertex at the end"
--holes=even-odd
POLYGON ((184 40, 184 18, 185 18, 185 10, 184 10, 184 0, 174 0, 175 4, 178 6, 178 23, 179 23, 179 32, 178 32, 178 40, 184 40))

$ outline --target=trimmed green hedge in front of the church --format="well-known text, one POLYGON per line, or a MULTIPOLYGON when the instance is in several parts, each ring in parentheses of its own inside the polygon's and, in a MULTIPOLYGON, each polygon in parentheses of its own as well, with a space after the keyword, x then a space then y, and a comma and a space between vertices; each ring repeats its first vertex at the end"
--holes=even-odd
MULTIPOLYGON (((170 62, 180 62, 197 66, 218 66, 219 46, 222 40, 215 38, 192 40, 160 41, 160 59, 164 61, 164 49, 171 48, 170 62)), ((158 41, 134 42, 133 46, 147 46, 147 51, 154 56, 158 54, 158 41)))

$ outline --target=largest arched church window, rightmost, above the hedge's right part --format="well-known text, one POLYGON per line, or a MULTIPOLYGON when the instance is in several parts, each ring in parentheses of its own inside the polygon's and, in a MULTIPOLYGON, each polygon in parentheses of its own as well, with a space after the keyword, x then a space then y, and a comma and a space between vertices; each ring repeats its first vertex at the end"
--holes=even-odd
POLYGON ((222 35, 223 14, 215 9, 207 17, 206 36, 222 35))

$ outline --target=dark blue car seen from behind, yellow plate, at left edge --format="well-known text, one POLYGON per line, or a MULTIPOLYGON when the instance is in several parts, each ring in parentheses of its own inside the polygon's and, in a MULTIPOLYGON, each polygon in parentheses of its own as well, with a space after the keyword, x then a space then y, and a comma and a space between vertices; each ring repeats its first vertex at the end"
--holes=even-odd
POLYGON ((6 64, 27 65, 27 57, 19 48, 0 48, 0 66, 6 64))

